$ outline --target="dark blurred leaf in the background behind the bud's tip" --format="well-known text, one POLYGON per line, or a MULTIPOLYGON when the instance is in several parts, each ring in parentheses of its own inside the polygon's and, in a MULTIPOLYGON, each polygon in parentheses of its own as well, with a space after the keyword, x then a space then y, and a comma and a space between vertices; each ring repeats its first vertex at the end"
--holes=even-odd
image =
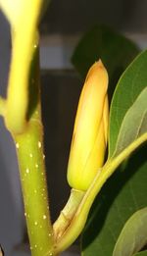
POLYGON ((79 41, 73 52, 72 62, 81 77, 90 66, 102 59, 109 77, 109 96, 128 64, 138 54, 137 46, 108 26, 94 26, 79 41))

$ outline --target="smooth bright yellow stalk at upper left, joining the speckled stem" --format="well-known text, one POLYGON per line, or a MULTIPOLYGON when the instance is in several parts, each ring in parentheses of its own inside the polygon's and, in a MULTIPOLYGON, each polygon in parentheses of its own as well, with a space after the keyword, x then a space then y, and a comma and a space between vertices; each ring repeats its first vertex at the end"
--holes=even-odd
POLYGON ((12 31, 5 124, 18 134, 24 132, 26 126, 29 69, 37 47, 36 30, 42 5, 43 0, 0 1, 0 9, 7 16, 12 31))

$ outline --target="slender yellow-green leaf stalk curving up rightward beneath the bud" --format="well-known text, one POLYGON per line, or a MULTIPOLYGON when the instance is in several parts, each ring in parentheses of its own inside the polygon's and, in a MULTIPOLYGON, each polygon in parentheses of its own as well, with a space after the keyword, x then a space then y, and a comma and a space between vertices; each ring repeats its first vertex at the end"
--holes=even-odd
POLYGON ((77 238, 81 230, 84 228, 91 205, 106 180, 111 177, 123 160, 144 141, 147 141, 147 133, 136 139, 132 144, 124 149, 119 156, 114 159, 110 159, 103 167, 101 173, 98 172, 96 178, 93 180, 81 203, 79 204, 77 211, 73 216, 71 225, 64 232, 62 237, 57 240, 55 247, 56 253, 64 251, 77 238))

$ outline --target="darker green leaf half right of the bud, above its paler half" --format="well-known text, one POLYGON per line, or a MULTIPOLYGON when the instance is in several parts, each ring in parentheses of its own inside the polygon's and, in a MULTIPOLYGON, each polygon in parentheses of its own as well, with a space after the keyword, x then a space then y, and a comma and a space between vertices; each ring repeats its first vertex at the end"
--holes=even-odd
MULTIPOLYGON (((117 85, 110 111, 109 157, 117 147, 117 140, 123 119, 140 92, 147 86, 147 51, 142 52, 126 69, 117 85)), ((137 103, 136 103, 137 104, 137 103)), ((146 106, 144 106, 146 109, 146 106)), ((135 118, 135 117, 134 117, 135 118)), ((144 123, 147 117, 144 117, 144 123)), ((146 125, 144 124, 145 128, 146 125)), ((133 126, 129 126, 129 134, 133 126)))

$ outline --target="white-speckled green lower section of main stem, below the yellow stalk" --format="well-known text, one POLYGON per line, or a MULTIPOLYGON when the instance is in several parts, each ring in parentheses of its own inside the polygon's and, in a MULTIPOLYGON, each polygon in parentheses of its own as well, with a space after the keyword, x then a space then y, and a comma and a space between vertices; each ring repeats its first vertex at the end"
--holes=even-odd
POLYGON ((53 255, 52 226, 44 167, 42 126, 33 119, 16 141, 32 256, 53 255))

